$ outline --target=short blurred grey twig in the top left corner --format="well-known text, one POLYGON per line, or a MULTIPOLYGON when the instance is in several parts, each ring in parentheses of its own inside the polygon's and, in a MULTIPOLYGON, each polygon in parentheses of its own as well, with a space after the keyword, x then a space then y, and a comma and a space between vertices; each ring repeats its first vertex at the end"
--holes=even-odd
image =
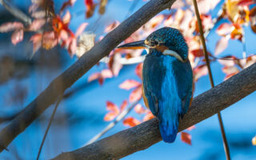
POLYGON ((25 22, 26 25, 30 25, 32 22, 32 19, 24 14, 21 10, 19 10, 16 6, 13 6, 10 4, 10 2, 6 2, 6 0, 0 0, 0 4, 6 8, 10 12, 10 14, 13 14, 15 18, 18 18, 22 22, 25 22))

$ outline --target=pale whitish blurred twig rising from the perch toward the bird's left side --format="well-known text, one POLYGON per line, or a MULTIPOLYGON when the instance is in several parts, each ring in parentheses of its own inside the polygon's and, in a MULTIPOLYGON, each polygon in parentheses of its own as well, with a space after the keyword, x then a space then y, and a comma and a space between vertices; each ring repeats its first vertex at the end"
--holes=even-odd
POLYGON ((127 114, 130 113, 130 110, 133 110, 134 106, 138 104, 138 102, 141 101, 142 98, 138 99, 138 101, 132 103, 129 107, 126 107, 126 110, 122 110, 120 114, 118 114, 117 118, 113 122, 110 122, 106 128, 104 128, 100 133, 96 134, 94 138, 91 138, 90 141, 86 143, 85 146, 90 145, 91 143, 98 140, 98 138, 101 138, 103 134, 106 134, 107 131, 111 130, 118 122, 120 122, 123 118, 126 117, 127 114))

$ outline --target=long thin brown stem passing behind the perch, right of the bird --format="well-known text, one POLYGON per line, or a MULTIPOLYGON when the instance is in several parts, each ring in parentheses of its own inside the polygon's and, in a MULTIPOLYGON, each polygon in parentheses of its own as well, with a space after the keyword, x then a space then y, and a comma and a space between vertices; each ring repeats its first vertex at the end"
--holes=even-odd
MULTIPOLYGON (((200 38, 201 38, 201 41, 202 41, 203 53, 204 53, 205 58, 206 58, 206 66, 207 66, 208 73, 209 73, 210 85, 211 85, 212 88, 214 88, 214 78, 213 78, 213 75, 212 75, 211 70, 210 70, 210 61, 209 61, 208 52, 207 52, 207 49, 206 49, 206 39, 203 36, 202 22, 201 22, 200 14, 199 14, 199 11, 198 11, 198 3, 196 2, 196 0, 193 0, 193 3, 194 3, 194 11, 195 11, 195 14, 196 14, 197 19, 198 19, 200 38)), ((221 115, 220 112, 218 112, 218 122, 219 122, 219 125, 221 127, 221 131, 222 131, 222 139, 223 139, 223 146, 224 146, 224 150, 225 150, 225 154, 226 154, 226 159, 230 160, 230 149, 229 149, 229 146, 228 146, 228 143, 227 143, 227 140, 226 140, 226 134, 225 134, 225 130, 224 130, 223 122, 222 122, 222 115, 221 115)))

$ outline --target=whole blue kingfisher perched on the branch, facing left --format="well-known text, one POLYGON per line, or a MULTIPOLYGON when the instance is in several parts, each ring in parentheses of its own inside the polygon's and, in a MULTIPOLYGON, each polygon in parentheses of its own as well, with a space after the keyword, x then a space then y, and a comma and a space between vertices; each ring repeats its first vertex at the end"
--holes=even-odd
POLYGON ((178 123, 193 97, 193 72, 182 33, 172 27, 155 30, 145 40, 118 46, 146 49, 142 67, 142 97, 158 119, 164 142, 174 142, 178 123))

